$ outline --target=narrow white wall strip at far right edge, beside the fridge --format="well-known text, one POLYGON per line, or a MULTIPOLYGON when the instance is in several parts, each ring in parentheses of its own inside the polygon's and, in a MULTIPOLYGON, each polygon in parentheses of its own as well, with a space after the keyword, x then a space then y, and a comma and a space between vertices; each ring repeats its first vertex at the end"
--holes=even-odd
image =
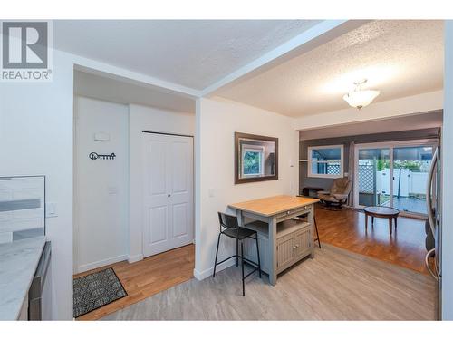
POLYGON ((445 106, 442 128, 442 319, 453 320, 453 21, 445 24, 445 106))

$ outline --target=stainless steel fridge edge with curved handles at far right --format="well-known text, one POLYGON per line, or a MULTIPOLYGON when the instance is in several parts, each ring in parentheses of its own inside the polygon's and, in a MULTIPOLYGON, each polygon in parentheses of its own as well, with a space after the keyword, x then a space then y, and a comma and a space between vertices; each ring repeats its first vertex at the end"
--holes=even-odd
POLYGON ((442 315, 442 225, 441 225, 441 165, 440 149, 434 151, 429 169, 429 180, 427 184, 427 239, 426 248, 428 253, 425 257, 425 264, 429 273, 438 281, 438 318, 442 315), (434 261, 429 264, 429 258, 433 257, 434 261))

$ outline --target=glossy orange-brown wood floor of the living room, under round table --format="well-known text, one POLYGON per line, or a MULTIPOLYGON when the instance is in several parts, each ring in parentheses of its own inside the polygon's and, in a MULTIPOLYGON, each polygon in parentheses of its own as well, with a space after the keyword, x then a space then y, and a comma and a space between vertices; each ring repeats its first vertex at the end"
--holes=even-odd
POLYGON ((375 218, 371 228, 370 218, 365 231, 365 215, 354 209, 333 211, 318 206, 315 216, 322 243, 428 274, 424 220, 399 217, 398 228, 390 235, 388 219, 375 218))

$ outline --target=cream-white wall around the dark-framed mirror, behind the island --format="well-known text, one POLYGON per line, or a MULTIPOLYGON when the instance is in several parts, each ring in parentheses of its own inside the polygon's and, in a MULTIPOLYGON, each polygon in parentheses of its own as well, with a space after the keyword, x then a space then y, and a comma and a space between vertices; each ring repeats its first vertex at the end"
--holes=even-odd
MULTIPOLYGON (((212 274, 219 229, 217 211, 226 211, 229 203, 247 199, 296 194, 298 140, 299 134, 292 128, 291 118, 218 98, 198 100, 194 271, 198 279, 212 274), (234 184, 235 131, 279 139, 278 180, 234 184)), ((219 258, 233 255, 235 251, 233 244, 224 238, 219 258)))

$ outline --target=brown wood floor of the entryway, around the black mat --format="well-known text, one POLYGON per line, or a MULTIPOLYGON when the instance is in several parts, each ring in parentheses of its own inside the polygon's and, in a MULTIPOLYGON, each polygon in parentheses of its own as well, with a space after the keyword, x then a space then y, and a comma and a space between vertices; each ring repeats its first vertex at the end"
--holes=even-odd
POLYGON ((120 298, 109 305, 80 316, 77 320, 97 320, 125 306, 130 306, 162 290, 173 287, 193 277, 195 267, 195 246, 193 244, 169 250, 141 261, 128 263, 122 261, 111 266, 96 268, 74 277, 112 267, 120 278, 128 296, 120 298))

